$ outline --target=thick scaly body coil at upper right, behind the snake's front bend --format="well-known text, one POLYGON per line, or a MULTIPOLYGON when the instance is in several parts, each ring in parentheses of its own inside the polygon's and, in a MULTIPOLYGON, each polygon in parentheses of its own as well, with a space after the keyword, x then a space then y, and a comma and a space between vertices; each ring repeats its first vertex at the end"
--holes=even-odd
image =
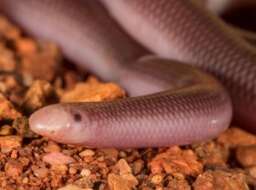
POLYGON ((192 1, 102 2, 127 32, 151 51, 195 65, 216 76, 231 95, 234 120, 256 131, 254 47, 192 1))

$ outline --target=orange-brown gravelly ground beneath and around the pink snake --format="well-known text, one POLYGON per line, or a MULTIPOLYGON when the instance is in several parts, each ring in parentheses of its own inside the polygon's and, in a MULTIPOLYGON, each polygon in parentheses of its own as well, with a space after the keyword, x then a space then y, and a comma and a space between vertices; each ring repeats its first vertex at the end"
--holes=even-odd
POLYGON ((254 189, 256 136, 238 127, 201 144, 126 150, 58 144, 29 130, 29 115, 48 104, 124 97, 0 17, 0 190, 254 189))

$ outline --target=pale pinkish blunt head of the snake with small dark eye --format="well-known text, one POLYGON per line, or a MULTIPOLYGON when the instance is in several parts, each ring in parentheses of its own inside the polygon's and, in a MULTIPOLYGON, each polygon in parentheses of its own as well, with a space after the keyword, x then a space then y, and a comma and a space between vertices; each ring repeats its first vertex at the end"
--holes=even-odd
POLYGON ((32 114, 29 124, 31 130, 37 134, 59 142, 76 144, 81 141, 79 136, 85 135, 81 130, 86 128, 82 126, 87 122, 79 112, 73 112, 65 104, 56 104, 32 114))

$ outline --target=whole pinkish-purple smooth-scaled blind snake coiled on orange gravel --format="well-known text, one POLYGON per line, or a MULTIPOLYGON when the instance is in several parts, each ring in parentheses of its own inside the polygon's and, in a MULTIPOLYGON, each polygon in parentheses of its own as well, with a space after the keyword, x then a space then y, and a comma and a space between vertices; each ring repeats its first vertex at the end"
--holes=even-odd
POLYGON ((256 51, 198 3, 1 0, 0 5, 28 32, 56 41, 71 60, 136 96, 42 108, 30 118, 39 134, 91 147, 213 138, 230 124, 231 101, 217 80, 195 66, 227 89, 233 119, 256 130, 256 51))

